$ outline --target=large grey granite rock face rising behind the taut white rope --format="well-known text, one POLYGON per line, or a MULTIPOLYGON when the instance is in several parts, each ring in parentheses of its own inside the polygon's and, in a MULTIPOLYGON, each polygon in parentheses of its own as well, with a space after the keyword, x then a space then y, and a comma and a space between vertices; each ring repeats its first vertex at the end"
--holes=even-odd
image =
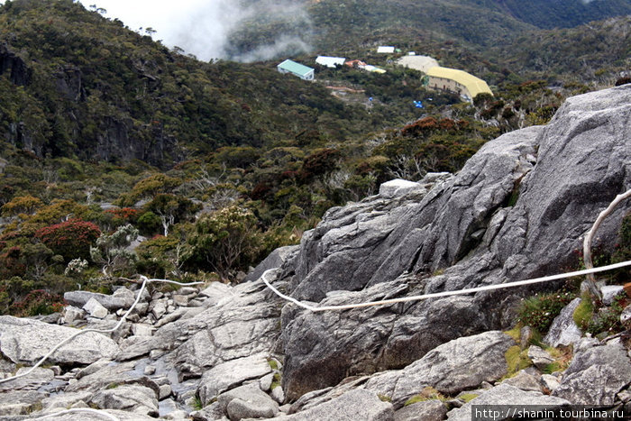
MULTIPOLYGON (((630 115, 631 87, 575 96, 550 124, 488 142, 451 178, 333 208, 305 233, 279 279, 292 297, 331 304, 370 297, 382 283, 389 288, 381 295, 404 297, 572 266, 572 252, 599 212, 631 188, 630 115)), ((628 208, 600 227, 603 243, 614 243, 628 208)), ((404 367, 463 334, 508 327, 519 294, 533 289, 463 297, 462 307, 444 298, 366 310, 368 324, 358 323, 363 310, 311 315, 289 305, 282 320, 285 391, 297 398, 340 377, 404 367), (438 317, 430 307, 443 307, 452 323, 433 325, 438 317)))

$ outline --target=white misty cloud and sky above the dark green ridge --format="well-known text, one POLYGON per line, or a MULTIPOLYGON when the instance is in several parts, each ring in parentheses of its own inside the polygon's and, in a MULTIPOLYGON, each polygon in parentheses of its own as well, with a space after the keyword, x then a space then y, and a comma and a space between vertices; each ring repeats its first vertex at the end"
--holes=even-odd
POLYGON ((198 59, 255 61, 311 50, 304 0, 81 0, 198 59))

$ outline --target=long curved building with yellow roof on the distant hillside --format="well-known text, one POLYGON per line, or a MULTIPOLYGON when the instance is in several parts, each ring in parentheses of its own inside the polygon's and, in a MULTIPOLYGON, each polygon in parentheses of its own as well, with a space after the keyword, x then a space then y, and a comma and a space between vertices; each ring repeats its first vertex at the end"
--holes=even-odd
POLYGON ((436 66, 427 69, 427 87, 443 89, 458 94, 472 102, 476 95, 486 93, 493 95, 489 85, 463 70, 448 69, 436 66))

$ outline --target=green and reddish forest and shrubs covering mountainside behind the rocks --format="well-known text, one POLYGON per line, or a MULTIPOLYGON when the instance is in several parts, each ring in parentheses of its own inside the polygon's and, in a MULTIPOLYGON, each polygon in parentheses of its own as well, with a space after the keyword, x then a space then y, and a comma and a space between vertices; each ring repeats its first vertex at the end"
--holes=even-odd
MULTIPOLYGON (((198 61, 72 0, 6 1, 0 311, 51 310, 64 290, 109 290, 137 272, 240 279, 331 206, 390 178, 457 171, 484 142, 544 124, 565 96, 613 85, 628 65, 628 17, 590 23, 588 34, 529 32, 480 2, 459 14, 446 2, 333 3, 309 6, 319 48, 386 74, 316 66, 318 81, 306 83, 277 61, 198 61), (374 53, 381 41, 467 69, 496 95, 470 105, 429 91, 397 56, 374 53)), ((234 54, 275 24, 233 34, 234 54)))

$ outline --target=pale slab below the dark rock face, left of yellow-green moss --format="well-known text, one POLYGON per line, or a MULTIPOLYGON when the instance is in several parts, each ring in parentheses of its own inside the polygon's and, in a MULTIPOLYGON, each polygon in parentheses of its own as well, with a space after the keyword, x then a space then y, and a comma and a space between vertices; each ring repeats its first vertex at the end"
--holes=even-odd
POLYGON ((501 332, 487 332, 444 343, 403 370, 373 375, 366 389, 392 399, 395 407, 420 394, 427 386, 453 395, 475 389, 483 381, 506 375, 505 353, 515 341, 501 332))

